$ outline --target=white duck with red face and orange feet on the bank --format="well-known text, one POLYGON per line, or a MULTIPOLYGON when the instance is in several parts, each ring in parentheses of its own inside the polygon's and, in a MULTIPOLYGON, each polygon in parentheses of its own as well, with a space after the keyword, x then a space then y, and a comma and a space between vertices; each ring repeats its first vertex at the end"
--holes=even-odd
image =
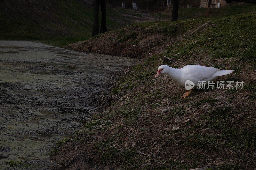
MULTIPOLYGON (((199 81, 206 81, 205 84, 208 84, 208 81, 212 81, 218 76, 224 76, 232 73, 234 70, 220 70, 214 67, 205 67, 201 65, 187 65, 181 69, 174 69, 168 65, 161 65, 158 67, 157 76, 160 74, 167 74, 177 84, 185 87, 185 82, 190 80, 194 83, 194 88, 197 87, 199 81)), ((193 88, 186 92, 181 97, 187 97, 193 88)))

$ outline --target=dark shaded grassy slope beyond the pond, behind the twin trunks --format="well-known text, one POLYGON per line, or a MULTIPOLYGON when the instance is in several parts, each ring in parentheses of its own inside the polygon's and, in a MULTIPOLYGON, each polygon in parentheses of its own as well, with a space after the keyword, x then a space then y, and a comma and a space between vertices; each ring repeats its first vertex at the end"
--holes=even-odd
MULTIPOLYGON (((87 1, 4 1, 0 7, 0 39, 67 45, 91 37, 93 15, 87 1)), ((126 23, 128 20, 107 7, 108 30, 126 23)))

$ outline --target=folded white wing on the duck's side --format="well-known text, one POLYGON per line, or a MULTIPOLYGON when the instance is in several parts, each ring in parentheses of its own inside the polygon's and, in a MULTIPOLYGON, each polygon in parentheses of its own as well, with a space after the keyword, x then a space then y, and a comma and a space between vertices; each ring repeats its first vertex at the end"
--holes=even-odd
POLYGON ((191 65, 189 67, 183 67, 182 73, 188 77, 194 77, 198 81, 204 81, 206 79, 213 78, 213 75, 220 69, 214 67, 205 67, 199 65, 191 65), (184 69, 183 69, 184 68, 184 69))

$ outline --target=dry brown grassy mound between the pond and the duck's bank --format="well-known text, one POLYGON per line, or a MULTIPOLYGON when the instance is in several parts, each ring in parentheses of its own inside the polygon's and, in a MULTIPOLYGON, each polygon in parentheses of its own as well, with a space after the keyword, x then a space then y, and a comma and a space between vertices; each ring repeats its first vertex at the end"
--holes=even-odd
POLYGON ((188 32, 190 28, 191 25, 182 21, 178 21, 175 25, 170 21, 135 23, 93 37, 90 40, 70 44, 65 48, 142 58, 145 52, 156 51, 157 46, 167 45, 166 42, 172 43, 173 38, 188 32))

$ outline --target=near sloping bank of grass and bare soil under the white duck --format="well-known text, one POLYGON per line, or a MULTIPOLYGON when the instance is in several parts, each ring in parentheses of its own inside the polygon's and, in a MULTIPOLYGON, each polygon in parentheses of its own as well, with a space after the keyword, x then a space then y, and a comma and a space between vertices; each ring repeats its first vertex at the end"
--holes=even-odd
POLYGON ((192 36, 181 31, 180 41, 128 69, 111 90, 111 104, 58 146, 54 161, 64 168, 255 169, 255 11, 173 24, 206 21, 203 30, 192 36), (163 56, 175 62, 159 60, 163 56), (182 87, 163 75, 154 78, 163 64, 233 69, 218 80, 243 80, 244 88, 196 90, 183 99, 182 87), (232 113, 246 115, 236 120, 232 113))

